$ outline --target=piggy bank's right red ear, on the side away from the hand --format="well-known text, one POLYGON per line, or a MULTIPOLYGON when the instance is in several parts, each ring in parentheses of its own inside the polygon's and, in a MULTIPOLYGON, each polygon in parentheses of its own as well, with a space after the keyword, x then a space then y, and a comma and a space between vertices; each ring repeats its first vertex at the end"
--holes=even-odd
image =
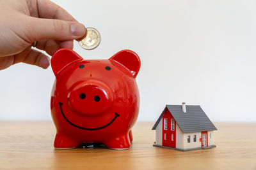
POLYGON ((113 55, 109 60, 114 60, 115 62, 122 64, 122 66, 126 67, 134 78, 140 71, 140 58, 131 50, 122 50, 113 55))

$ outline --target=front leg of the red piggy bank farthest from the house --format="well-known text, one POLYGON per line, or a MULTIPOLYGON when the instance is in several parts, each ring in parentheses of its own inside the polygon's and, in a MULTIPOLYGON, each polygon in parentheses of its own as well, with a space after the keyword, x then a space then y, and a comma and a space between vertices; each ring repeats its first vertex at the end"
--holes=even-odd
POLYGON ((56 149, 72 149, 79 146, 81 143, 74 141, 67 136, 57 133, 54 141, 54 148, 56 149))

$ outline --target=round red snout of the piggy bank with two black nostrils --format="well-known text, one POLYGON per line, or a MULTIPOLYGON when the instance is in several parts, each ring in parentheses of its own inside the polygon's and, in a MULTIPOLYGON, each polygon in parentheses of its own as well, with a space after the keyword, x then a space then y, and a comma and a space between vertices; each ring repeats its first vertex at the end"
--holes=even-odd
POLYGON ((70 108, 84 116, 104 113, 111 106, 112 101, 112 91, 100 81, 78 82, 68 93, 70 108))

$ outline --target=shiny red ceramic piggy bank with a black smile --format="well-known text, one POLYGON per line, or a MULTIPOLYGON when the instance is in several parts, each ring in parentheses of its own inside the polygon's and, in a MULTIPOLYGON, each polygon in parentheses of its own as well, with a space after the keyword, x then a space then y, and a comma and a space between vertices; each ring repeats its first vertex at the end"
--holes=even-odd
POLYGON ((131 146, 140 97, 136 75, 140 58, 122 50, 108 60, 84 60, 67 48, 51 59, 56 81, 51 114, 57 129, 54 148, 102 143, 122 150, 131 146))

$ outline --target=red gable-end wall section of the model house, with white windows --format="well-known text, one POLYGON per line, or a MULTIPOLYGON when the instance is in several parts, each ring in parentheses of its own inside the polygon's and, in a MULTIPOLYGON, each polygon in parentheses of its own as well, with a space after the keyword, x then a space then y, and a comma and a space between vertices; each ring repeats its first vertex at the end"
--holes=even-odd
POLYGON ((176 148, 176 121, 174 120, 174 131, 171 130, 171 119, 172 115, 170 111, 166 110, 163 116, 163 146, 176 148), (167 130, 164 130, 164 118, 167 118, 167 130), (166 139, 164 139, 164 134, 166 134, 166 139), (173 141, 172 141, 173 134, 173 141))

